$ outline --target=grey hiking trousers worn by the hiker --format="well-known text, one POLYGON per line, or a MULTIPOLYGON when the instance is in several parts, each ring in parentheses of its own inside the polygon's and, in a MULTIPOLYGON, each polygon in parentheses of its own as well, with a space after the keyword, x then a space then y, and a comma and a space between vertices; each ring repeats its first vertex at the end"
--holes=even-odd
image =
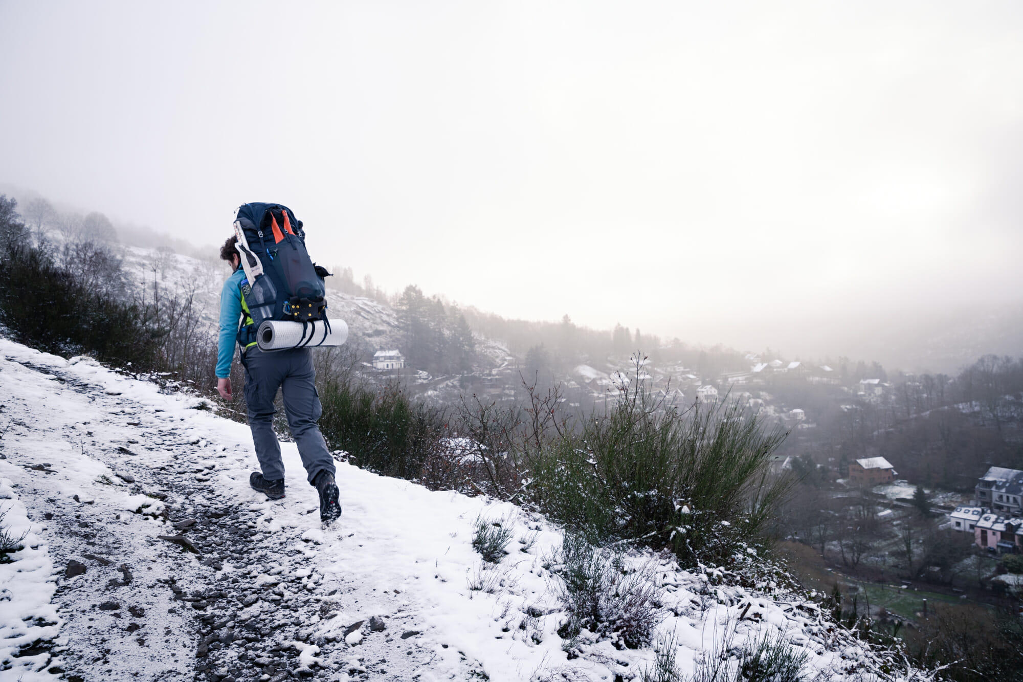
POLYGON ((316 371, 312 350, 299 348, 263 352, 252 346, 242 355, 246 368, 246 404, 249 427, 253 430, 256 458, 267 480, 284 477, 284 462, 280 459, 280 443, 273 432, 273 400, 280 388, 284 398, 284 414, 292 436, 299 446, 302 465, 310 483, 320 471, 335 473, 333 459, 316 422, 323 408, 316 393, 316 371))

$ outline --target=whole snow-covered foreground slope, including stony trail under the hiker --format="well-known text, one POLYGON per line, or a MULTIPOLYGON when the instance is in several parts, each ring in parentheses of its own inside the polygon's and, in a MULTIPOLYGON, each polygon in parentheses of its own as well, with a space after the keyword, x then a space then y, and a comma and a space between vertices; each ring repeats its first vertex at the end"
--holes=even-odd
MULTIPOLYGON (((0 396, 0 510, 27 534, 0 564, 4 680, 612 681, 655 659, 585 632, 566 655, 562 536, 517 507, 339 462, 344 515, 324 529, 294 444, 270 502, 248 484, 248 427, 198 398, 3 339, 0 396), (496 565, 473 548, 480 518, 511 530, 496 565)), ((870 668, 798 594, 664 557, 627 565, 686 675, 768 635, 806 655, 807 679, 870 668)))

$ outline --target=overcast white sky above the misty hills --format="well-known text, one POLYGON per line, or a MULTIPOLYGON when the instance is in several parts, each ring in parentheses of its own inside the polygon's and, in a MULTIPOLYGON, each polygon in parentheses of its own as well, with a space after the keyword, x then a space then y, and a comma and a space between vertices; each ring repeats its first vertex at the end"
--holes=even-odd
POLYGON ((798 350, 1021 293, 1016 0, 0 0, 0 183, 211 247, 285 203, 506 316, 798 350))

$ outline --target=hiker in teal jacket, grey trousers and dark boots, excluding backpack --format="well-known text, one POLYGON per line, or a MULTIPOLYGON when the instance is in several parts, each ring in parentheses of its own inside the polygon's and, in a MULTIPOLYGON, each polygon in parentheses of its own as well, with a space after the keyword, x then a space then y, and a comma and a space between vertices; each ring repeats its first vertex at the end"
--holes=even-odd
MULTIPOLYGON (((231 237, 220 249, 221 259, 229 262, 232 269, 220 294, 220 337, 217 343, 217 391, 226 399, 231 398, 230 374, 235 341, 241 345, 238 333, 243 327, 239 327, 239 322, 252 323, 248 306, 242 305, 242 287, 248 287, 249 283, 240 267, 235 246, 237 239, 236 235, 231 237)), ((252 473, 250 485, 271 500, 284 497, 284 463, 280 457, 280 443, 273 432, 273 401, 280 388, 287 426, 299 446, 302 465, 306 468, 309 483, 319 493, 320 519, 326 523, 333 521, 341 516, 341 505, 338 503, 333 459, 316 425, 322 407, 316 394, 312 350, 290 348, 266 352, 251 342, 242 345, 241 364, 246 370, 249 426, 253 432, 256 458, 262 469, 252 473)))

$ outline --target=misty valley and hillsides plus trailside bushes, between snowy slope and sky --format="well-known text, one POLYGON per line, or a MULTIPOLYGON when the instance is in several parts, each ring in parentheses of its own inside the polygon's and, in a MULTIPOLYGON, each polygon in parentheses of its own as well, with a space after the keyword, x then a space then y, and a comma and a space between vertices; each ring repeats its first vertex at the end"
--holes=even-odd
MULTIPOLYGON (((240 390, 214 390, 228 274, 215 254, 42 199, 0 208, 0 332, 244 421, 240 390)), ((951 679, 1015 679, 1020 358, 908 373, 697 346, 568 314, 506 319, 329 269, 328 311, 350 334, 315 365, 343 461, 542 512, 582 552, 627 543, 696 569, 748 550, 751 580, 793 581, 862 641, 921 669, 966 662, 951 679)), ((236 386, 241 373, 235 358, 236 386)), ((275 420, 287 440, 282 410, 275 420)), ((571 658, 605 627, 578 612, 558 632, 571 658)), ((651 641, 649 628, 614 632, 623 647, 651 641)))

